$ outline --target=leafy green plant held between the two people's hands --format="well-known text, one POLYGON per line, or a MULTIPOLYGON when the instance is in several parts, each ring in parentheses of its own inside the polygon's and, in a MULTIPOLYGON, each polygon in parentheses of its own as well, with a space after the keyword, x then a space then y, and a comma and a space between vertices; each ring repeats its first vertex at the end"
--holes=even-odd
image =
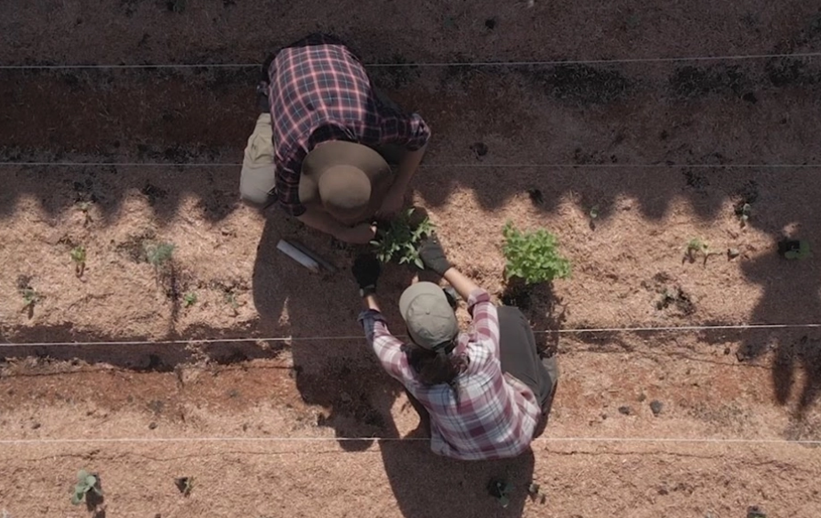
POLYGON ((371 241, 371 245, 375 248, 376 258, 382 263, 396 261, 424 268, 422 258, 419 257, 419 244, 425 236, 431 235, 434 227, 427 216, 414 222, 414 211, 410 208, 388 223, 387 227, 376 230, 376 239, 371 241))

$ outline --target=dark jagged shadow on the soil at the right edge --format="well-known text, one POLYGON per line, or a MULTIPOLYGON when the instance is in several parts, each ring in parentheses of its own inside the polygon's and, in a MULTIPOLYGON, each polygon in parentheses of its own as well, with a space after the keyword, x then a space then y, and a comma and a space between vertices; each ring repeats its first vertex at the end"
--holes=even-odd
MULTIPOLYGON (((817 235, 817 234, 816 234, 817 235)), ((761 284, 763 293, 753 310, 753 323, 815 324, 821 315, 821 272, 812 259, 788 261, 773 252, 742 264, 745 277, 761 284)), ((803 417, 821 395, 821 333, 817 329, 775 332, 748 329, 742 333, 740 360, 774 351, 772 379, 775 398, 786 405, 797 395, 797 415, 803 417), (799 374, 798 371, 803 371, 799 374), (800 393, 795 385, 803 379, 800 393)))

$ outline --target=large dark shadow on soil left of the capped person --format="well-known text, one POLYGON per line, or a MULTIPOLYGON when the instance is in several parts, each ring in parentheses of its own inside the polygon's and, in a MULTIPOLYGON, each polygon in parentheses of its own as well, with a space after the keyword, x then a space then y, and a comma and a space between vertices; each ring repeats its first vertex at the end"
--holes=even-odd
MULTIPOLYGON (((298 222, 272 214, 262 231, 254 263, 254 305, 259 332, 293 336, 290 351, 296 388, 309 405, 326 409, 318 425, 340 438, 397 437, 390 408, 401 387, 382 372, 366 344, 357 318, 358 288, 350 265, 358 247, 334 247, 332 239, 298 222), (335 273, 310 273, 278 251, 280 239, 297 239, 334 263, 335 273)), ((379 281, 386 301, 383 311, 398 318, 398 300, 410 283, 407 268, 386 268, 379 281)), ((372 441, 340 441, 342 448, 361 450, 372 441)))

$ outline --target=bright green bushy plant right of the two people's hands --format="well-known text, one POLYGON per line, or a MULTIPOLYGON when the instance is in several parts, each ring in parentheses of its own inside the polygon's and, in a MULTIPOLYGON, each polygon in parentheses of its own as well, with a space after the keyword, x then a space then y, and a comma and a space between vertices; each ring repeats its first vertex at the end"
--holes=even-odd
POLYGON ((508 222, 502 233, 507 279, 521 279, 530 285, 570 277, 570 261, 559 254, 559 242, 550 232, 544 229, 522 232, 508 222))

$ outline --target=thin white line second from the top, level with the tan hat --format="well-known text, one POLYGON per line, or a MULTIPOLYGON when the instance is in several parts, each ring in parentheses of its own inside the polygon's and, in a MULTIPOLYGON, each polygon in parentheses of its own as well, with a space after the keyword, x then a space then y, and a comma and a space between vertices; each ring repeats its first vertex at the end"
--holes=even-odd
MULTIPOLYGON (((0 162, 0 167, 13 166, 52 166, 52 167, 240 167, 240 162, 0 162)), ((805 169, 818 168, 821 164, 422 164, 420 167, 433 169, 440 167, 455 168, 492 168, 492 167, 519 167, 519 168, 556 168, 556 169, 663 169, 693 168, 693 169, 730 169, 738 168, 777 168, 777 169, 805 169)))

